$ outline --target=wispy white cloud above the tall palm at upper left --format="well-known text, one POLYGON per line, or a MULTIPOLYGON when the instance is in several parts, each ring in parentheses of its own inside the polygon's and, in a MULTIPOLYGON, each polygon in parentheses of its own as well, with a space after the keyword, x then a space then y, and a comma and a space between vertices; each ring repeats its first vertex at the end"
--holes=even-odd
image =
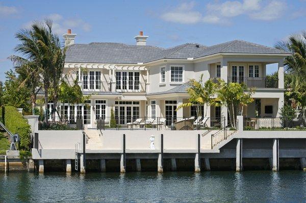
MULTIPOLYGON (((65 19, 62 15, 58 13, 52 13, 46 16, 43 16, 42 19, 50 19, 53 21, 53 31, 59 35, 62 35, 67 32, 68 29, 80 29, 85 32, 91 31, 91 25, 79 18, 67 18, 65 19)), ((24 23, 24 28, 30 28, 32 21, 24 23)))

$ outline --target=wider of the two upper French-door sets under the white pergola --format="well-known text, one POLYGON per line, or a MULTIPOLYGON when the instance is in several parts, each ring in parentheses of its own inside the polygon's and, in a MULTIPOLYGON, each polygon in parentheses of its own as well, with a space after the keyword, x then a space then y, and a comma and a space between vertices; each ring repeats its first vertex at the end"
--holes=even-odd
POLYGON ((117 71, 115 76, 116 90, 139 90, 139 72, 117 71))

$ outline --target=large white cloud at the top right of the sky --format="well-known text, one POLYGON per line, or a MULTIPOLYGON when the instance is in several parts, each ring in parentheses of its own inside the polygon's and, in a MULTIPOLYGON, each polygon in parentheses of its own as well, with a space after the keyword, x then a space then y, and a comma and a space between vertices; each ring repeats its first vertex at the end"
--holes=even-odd
POLYGON ((199 22, 211 24, 229 24, 231 18, 248 16, 254 20, 275 20, 282 17, 286 3, 282 0, 243 0, 209 3, 206 12, 196 11, 194 2, 182 3, 173 11, 164 13, 161 18, 168 22, 195 24, 199 22))

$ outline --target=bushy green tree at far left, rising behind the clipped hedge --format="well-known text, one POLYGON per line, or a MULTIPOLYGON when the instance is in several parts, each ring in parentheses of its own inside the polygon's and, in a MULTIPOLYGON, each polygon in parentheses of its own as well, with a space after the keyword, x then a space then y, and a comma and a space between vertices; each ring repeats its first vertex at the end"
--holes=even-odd
POLYGON ((5 105, 23 108, 24 111, 30 110, 30 91, 26 87, 20 86, 20 78, 10 70, 5 73, 6 81, 3 92, 3 101, 5 105))

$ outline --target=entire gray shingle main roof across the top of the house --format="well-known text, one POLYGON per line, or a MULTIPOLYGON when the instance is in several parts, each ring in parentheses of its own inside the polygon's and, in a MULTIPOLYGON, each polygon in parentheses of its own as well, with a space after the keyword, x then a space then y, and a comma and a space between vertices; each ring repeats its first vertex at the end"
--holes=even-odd
POLYGON ((65 62, 137 64, 160 59, 196 59, 216 53, 286 54, 283 50, 242 40, 234 40, 209 47, 196 43, 187 43, 167 49, 156 46, 94 42, 69 46, 65 62))

